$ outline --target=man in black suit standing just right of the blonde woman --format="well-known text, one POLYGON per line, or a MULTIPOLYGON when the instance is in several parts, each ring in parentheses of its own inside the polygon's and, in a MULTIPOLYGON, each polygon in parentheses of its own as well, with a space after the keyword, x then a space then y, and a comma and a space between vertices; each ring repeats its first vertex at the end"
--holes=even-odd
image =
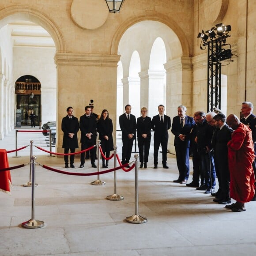
POLYGON ((168 169, 167 162, 167 143, 168 130, 171 128, 171 118, 164 114, 165 106, 158 106, 159 115, 154 116, 151 121, 151 128, 154 130, 154 169, 158 168, 158 150, 162 146, 162 165, 168 169))

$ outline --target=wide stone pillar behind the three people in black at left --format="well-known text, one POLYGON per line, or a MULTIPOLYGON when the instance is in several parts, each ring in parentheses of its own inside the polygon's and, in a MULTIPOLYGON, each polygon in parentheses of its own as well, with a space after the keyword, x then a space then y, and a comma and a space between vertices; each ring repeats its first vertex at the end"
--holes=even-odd
MULTIPOLYGON (((68 106, 74 108, 78 119, 84 115, 84 107, 94 100, 94 112, 108 109, 116 127, 117 109, 117 63, 120 55, 56 53, 57 113, 56 152, 63 152, 61 120, 67 115, 68 106)), ((114 139, 116 138, 113 132, 114 139)), ((80 132, 78 133, 80 142, 80 132)))

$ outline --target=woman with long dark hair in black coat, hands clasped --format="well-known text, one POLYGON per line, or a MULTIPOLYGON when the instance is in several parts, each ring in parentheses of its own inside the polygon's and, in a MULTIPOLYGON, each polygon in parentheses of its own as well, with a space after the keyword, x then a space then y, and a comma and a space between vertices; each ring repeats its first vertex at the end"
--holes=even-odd
MULTIPOLYGON (((99 139, 101 140, 101 147, 102 152, 108 158, 110 155, 110 151, 113 150, 114 143, 113 143, 113 123, 112 120, 109 118, 109 112, 107 109, 102 110, 102 114, 100 119, 98 120, 97 130, 99 133, 99 139)), ((102 156, 102 167, 108 168, 109 167, 109 160, 106 160, 102 156)))

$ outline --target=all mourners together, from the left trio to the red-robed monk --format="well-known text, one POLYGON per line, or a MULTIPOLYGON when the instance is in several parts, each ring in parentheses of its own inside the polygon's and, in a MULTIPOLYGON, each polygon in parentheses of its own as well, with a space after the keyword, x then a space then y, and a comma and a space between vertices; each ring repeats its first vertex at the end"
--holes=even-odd
MULTIPOLYGON (((73 116, 73 108, 68 107, 68 115, 63 118, 61 128, 64 132, 64 153, 71 153, 78 148, 77 132, 81 130, 81 150, 90 148, 91 166, 96 168, 95 157, 97 132, 105 157, 113 151, 113 123, 109 112, 102 110, 101 116, 93 113, 93 104, 85 107, 85 114, 80 120, 73 116)), ((147 116, 147 108, 141 109, 141 117, 131 114, 131 105, 125 106, 125 113, 120 115, 122 131, 122 164, 129 164, 133 141, 137 134, 140 168, 147 168, 151 130, 154 131, 154 169, 158 168, 158 151, 162 147, 162 168, 167 166, 168 130, 174 137, 177 168, 179 177, 173 182, 196 187, 205 194, 215 196, 214 202, 226 204, 226 208, 235 212, 245 211, 245 203, 256 200, 256 117, 252 114, 251 102, 243 102, 241 120, 234 114, 227 118, 219 110, 205 114, 196 111, 193 117, 186 115, 186 107, 178 106, 178 115, 171 119, 165 115, 164 105, 158 106, 159 114, 147 116), (189 157, 192 157, 193 177, 188 183, 189 157), (218 178, 218 191, 215 192, 215 179, 218 178), (236 200, 231 203, 231 198, 236 200)), ((65 168, 68 168, 68 156, 64 156, 65 168)), ((84 167, 85 153, 81 153, 80 168, 84 167)), ((129 166, 129 165, 128 165, 129 166)), ((70 156, 70 167, 74 168, 74 155, 70 156)), ((102 156, 102 167, 108 167, 108 160, 102 156)))

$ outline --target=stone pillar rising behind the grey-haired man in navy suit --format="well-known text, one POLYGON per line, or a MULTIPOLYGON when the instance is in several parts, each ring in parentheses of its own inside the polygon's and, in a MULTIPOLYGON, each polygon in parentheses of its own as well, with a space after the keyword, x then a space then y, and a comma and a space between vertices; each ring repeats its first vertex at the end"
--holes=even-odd
MULTIPOLYGON (((165 65, 167 80, 166 113, 171 117, 177 116, 177 107, 185 105, 187 114, 192 115, 192 60, 181 57, 168 61, 165 65)), ((169 130, 168 149, 175 152, 173 146, 174 136, 169 130)))

